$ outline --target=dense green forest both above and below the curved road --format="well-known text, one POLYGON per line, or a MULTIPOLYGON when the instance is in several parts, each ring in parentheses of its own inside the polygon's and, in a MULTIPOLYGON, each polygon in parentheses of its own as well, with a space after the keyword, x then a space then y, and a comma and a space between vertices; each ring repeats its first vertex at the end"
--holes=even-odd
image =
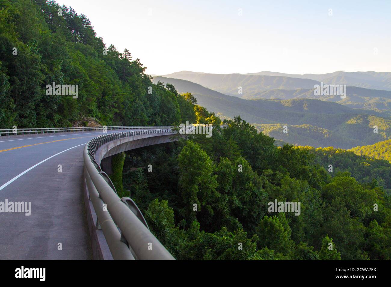
POLYGON ((106 48, 71 7, 0 1, 0 83, 2 128, 70 127, 91 118, 100 125, 212 123, 210 138, 179 137, 113 157, 118 195, 135 200, 178 260, 391 258, 389 162, 278 147, 240 116, 222 121, 191 93, 153 84, 139 59, 106 48), (52 82, 78 85, 78 98, 46 95, 52 82), (274 200, 300 202, 300 216, 268 212, 274 200))

